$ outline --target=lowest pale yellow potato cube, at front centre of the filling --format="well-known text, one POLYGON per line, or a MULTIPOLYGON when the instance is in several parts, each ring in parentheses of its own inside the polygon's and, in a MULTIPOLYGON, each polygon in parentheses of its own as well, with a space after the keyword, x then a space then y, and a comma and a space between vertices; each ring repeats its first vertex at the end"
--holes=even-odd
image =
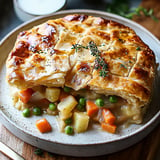
POLYGON ((84 112, 74 112, 73 122, 75 132, 85 132, 88 128, 89 116, 84 112))

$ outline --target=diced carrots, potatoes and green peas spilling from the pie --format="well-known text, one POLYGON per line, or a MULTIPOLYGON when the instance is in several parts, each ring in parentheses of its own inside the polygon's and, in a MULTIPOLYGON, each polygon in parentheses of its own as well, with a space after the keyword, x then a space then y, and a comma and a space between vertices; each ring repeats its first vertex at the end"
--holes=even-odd
MULTIPOLYGON (((64 88, 39 86, 22 90, 18 96, 21 102, 28 105, 23 109, 24 117, 40 116, 43 113, 55 115, 60 131, 68 135, 74 132, 85 132, 92 122, 98 122, 103 130, 115 133, 116 116, 107 106, 117 103, 118 97, 105 97, 98 94, 95 97, 87 97, 85 94, 82 96, 82 93, 86 94, 87 91, 76 93, 67 86, 64 88)), ((50 123, 45 118, 37 120, 36 127, 41 133, 52 130, 50 123)))

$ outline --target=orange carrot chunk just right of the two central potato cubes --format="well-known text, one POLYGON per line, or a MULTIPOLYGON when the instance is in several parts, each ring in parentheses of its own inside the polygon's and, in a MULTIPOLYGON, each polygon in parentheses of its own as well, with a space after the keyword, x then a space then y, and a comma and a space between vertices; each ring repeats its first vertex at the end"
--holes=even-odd
POLYGON ((86 102, 86 110, 87 110, 87 114, 88 116, 93 116, 95 115, 98 110, 99 110, 99 107, 92 101, 87 101, 86 102))

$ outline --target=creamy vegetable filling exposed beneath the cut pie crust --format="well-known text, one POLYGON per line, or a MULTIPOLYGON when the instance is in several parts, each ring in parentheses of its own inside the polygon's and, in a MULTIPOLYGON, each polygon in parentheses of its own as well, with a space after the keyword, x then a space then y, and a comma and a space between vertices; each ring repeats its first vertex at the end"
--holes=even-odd
POLYGON ((67 86, 36 86, 21 91, 13 89, 13 92, 12 99, 17 109, 29 108, 29 116, 32 116, 36 115, 35 108, 39 108, 39 115, 56 116, 61 132, 65 132, 68 125, 76 133, 85 132, 97 123, 103 130, 116 133, 118 126, 141 123, 144 113, 144 107, 130 105, 116 95, 95 93, 89 88, 75 91, 67 86))

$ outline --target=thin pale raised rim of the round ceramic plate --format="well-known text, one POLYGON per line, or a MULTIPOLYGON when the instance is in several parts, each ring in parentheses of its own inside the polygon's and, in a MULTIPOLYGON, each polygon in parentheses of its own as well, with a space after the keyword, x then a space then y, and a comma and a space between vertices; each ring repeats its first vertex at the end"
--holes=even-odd
MULTIPOLYGON (((144 30, 144 32, 146 32, 149 36, 151 36, 151 38, 153 38, 159 45, 160 45, 160 41, 150 32, 148 31, 146 28, 142 27, 140 24, 132 21, 132 20, 129 20, 129 19, 126 19, 126 18, 123 18, 121 16, 118 16, 118 15, 115 15, 115 14, 112 14, 112 13, 108 13, 108 12, 103 12, 103 11, 98 11, 98 10, 90 10, 90 9, 71 9, 71 10, 64 10, 64 11, 59 11, 59 12, 56 12, 54 14, 49 14, 47 16, 40 16, 40 17, 37 17, 37 18, 34 18, 32 20, 29 20, 27 22, 24 22, 22 23, 21 25, 17 26, 15 29, 13 29, 11 32, 9 32, 1 41, 0 41, 0 46, 3 45, 5 43, 5 41, 12 35, 14 34, 15 31, 21 29, 22 27, 28 25, 28 24, 31 24, 32 22, 35 22, 35 21, 38 21, 38 20, 43 20, 45 18, 51 18, 55 15, 61 15, 61 14, 97 14, 99 16, 105 16, 105 17, 111 17, 111 18, 115 18, 115 19, 120 19, 124 22, 128 22, 132 25, 135 25, 137 26, 138 28, 144 30)), ((21 128, 20 126, 16 126, 16 124, 11 120, 9 119, 9 117, 7 117, 7 115, 0 109, 0 113, 2 114, 2 116, 4 116, 4 118, 9 122, 11 123, 14 127, 20 129, 22 132, 23 131, 23 128, 21 128)), ((158 118, 160 117, 160 110, 147 122, 145 123, 142 127, 140 127, 139 129, 137 129, 136 131, 134 131, 133 133, 129 134, 129 135, 125 135, 123 137, 120 137, 119 139, 116 139, 116 140, 111 140, 111 141, 108 141, 108 142, 98 142, 98 143, 91 143, 91 144, 87 144, 87 145, 101 145, 101 144, 106 144, 106 143, 112 143, 112 142, 117 142, 117 141, 120 141, 120 140, 124 140, 126 138, 130 138, 132 136, 135 136, 136 134, 138 133, 141 133, 141 131, 145 130, 148 126, 150 126, 154 121, 156 121, 158 118)), ((158 124, 159 122, 156 122, 156 125, 158 124)), ((155 125, 155 126, 156 126, 155 125)), ((34 136, 33 134, 31 134, 30 132, 24 132, 25 134, 27 135, 30 135, 34 138, 37 138, 37 136, 34 136)), ((39 138, 39 137, 38 137, 39 138)), ((41 139, 42 141, 46 141, 46 139, 44 138, 39 138, 41 139)), ((61 143, 61 142, 57 142, 57 141, 51 141, 51 140, 47 140, 51 143, 58 143, 58 144, 62 144, 62 145, 73 145, 73 146, 84 146, 86 144, 69 144, 69 143, 61 143)))

